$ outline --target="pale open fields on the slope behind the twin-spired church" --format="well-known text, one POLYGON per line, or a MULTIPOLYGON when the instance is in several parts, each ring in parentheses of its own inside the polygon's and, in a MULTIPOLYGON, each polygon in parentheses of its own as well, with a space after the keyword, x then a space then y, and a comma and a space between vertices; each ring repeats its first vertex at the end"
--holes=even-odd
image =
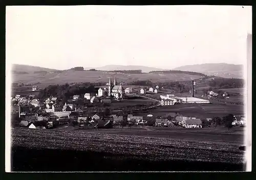
POLYGON ((124 74, 105 71, 64 71, 61 73, 30 73, 13 74, 12 82, 15 83, 37 83, 38 87, 46 87, 52 84, 65 84, 74 82, 108 82, 109 76, 116 76, 118 82, 132 82, 137 80, 150 80, 152 82, 187 81, 202 78, 200 75, 186 73, 142 73, 124 74))

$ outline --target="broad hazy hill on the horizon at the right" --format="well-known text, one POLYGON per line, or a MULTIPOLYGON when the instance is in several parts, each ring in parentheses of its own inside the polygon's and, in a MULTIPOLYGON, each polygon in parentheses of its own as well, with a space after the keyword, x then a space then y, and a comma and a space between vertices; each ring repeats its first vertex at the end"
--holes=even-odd
POLYGON ((216 75, 223 78, 243 78, 243 65, 226 63, 208 63, 186 65, 174 68, 173 70, 201 72, 207 75, 216 75))

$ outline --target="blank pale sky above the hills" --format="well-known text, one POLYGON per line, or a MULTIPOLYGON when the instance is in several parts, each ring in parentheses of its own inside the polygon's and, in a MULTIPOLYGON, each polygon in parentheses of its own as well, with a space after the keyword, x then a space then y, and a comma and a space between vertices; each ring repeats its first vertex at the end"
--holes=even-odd
POLYGON ((7 6, 6 62, 172 69, 246 62, 251 6, 7 6))

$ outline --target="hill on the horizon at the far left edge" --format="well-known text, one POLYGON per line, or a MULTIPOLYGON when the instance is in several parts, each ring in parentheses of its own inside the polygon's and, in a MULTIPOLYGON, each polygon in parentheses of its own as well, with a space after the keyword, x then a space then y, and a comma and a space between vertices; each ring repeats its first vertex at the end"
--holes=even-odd
POLYGON ((12 64, 12 71, 14 72, 36 72, 36 71, 46 71, 46 72, 53 72, 57 71, 56 69, 49 69, 45 67, 38 67, 38 66, 30 66, 30 65, 23 65, 23 64, 12 64))

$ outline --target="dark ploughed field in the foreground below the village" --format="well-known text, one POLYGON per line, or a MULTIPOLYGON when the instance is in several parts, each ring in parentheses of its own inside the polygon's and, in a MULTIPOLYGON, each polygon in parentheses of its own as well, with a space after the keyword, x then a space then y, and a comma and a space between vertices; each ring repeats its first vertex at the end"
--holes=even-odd
POLYGON ((193 137, 191 134, 183 135, 181 140, 176 137, 177 132, 169 137, 156 135, 145 137, 136 134, 139 135, 140 132, 127 136, 85 131, 13 128, 12 169, 14 171, 243 170, 244 153, 238 149, 242 142, 224 142, 221 139, 208 141, 207 135, 204 138, 206 140, 197 137, 194 140, 191 138, 187 140, 185 137, 193 137), (65 165, 60 163, 62 162, 59 161, 60 159, 66 162, 65 165))

